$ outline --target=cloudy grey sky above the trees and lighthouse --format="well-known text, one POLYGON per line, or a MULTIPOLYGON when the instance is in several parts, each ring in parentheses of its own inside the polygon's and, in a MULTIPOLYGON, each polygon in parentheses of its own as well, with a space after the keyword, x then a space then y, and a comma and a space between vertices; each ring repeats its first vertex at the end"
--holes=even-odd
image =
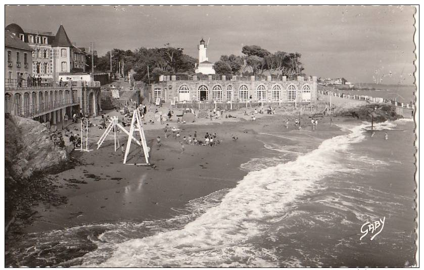
POLYGON ((412 84, 415 8, 410 6, 6 6, 5 26, 57 32, 77 46, 184 48, 198 58, 202 37, 210 62, 242 55, 244 45, 300 52, 308 76, 412 84), (388 74, 391 73, 391 76, 388 74))

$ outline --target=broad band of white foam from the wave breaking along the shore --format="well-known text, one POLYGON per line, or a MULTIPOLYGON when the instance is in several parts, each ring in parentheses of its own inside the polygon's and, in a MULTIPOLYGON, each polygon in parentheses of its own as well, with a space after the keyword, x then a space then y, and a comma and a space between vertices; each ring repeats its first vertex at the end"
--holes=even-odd
MULTIPOLYGON (((346 170, 337 153, 364 138, 363 126, 325 140, 294 161, 248 173, 222 201, 182 229, 114 244, 102 263, 83 266, 277 266, 273 252, 256 249, 266 221, 284 215, 287 204, 310 191, 316 180, 346 170)), ((296 263, 295 263, 296 264, 296 263)))

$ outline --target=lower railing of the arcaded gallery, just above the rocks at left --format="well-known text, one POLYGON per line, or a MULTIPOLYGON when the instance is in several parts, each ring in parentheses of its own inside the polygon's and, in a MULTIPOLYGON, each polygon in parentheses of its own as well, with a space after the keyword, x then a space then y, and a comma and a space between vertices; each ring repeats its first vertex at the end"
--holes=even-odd
POLYGON ((38 104, 21 105, 17 108, 17 115, 20 117, 34 118, 43 114, 50 113, 54 110, 62 109, 63 107, 78 105, 78 99, 61 99, 54 101, 46 101, 38 104))

